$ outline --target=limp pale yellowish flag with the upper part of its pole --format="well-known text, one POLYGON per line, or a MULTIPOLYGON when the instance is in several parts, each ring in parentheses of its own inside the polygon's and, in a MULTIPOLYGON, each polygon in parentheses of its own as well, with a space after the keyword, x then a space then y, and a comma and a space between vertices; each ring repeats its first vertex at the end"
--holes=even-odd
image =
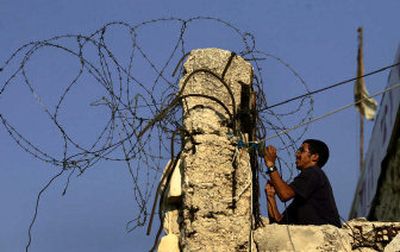
POLYGON ((358 102, 356 107, 358 111, 367 119, 374 120, 376 109, 378 107, 374 98, 369 97, 367 88, 365 87, 364 78, 364 62, 362 53, 362 28, 358 28, 358 54, 357 54, 357 80, 354 84, 354 100, 358 102), (361 101, 360 101, 361 100, 361 101))

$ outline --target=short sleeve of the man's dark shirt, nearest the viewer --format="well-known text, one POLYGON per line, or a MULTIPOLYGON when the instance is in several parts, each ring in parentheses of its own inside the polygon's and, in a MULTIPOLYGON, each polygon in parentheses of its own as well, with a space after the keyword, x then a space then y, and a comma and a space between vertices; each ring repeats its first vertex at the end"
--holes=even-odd
POLYGON ((303 199, 307 199, 314 192, 314 190, 320 187, 321 179, 319 176, 319 169, 317 167, 308 168, 303 170, 292 183, 289 184, 293 188, 296 195, 303 199))

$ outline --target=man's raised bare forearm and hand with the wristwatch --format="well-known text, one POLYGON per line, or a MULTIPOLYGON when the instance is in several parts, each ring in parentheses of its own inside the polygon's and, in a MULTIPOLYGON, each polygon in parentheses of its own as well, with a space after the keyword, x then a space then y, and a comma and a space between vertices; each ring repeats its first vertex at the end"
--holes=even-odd
MULTIPOLYGON (((269 145, 264 151, 264 162, 267 167, 275 166, 276 149, 269 145)), ((274 186, 276 193, 281 201, 286 202, 292 199, 296 193, 295 191, 281 178, 278 171, 269 174, 271 183, 274 186)))

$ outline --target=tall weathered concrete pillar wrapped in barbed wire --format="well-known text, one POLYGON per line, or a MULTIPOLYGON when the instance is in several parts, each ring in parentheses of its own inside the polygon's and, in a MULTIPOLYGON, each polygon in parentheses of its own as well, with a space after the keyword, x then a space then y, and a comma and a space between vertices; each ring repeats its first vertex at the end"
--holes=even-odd
MULTIPOLYGON (((240 105, 241 84, 251 83, 252 67, 220 49, 191 52, 180 82, 182 95, 202 94, 217 98, 231 114, 240 105), (207 69, 222 77, 234 95, 207 69), (234 109, 234 107, 236 109, 234 109)), ((237 150, 232 118, 218 102, 204 97, 183 101, 187 131, 181 155, 183 162, 183 205, 181 249, 183 251, 248 251, 251 247, 251 167, 247 151, 237 150)))

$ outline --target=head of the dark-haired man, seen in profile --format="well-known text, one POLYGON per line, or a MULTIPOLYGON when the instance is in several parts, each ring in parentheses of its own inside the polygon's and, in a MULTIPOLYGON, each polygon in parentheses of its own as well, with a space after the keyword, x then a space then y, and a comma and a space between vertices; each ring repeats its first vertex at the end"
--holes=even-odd
POLYGON ((316 139, 307 139, 296 151, 296 167, 300 170, 313 166, 322 168, 329 158, 328 146, 316 139))

